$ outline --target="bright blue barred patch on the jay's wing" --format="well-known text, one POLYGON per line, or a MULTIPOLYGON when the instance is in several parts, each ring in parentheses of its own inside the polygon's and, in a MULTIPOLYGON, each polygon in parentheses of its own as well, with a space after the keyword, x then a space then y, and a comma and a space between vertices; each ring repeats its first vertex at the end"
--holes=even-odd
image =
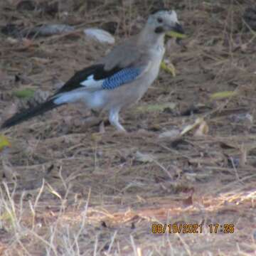
POLYGON ((106 90, 113 90, 120 85, 132 82, 141 73, 140 68, 124 68, 123 70, 115 73, 110 78, 106 78, 102 83, 102 88, 106 90))

